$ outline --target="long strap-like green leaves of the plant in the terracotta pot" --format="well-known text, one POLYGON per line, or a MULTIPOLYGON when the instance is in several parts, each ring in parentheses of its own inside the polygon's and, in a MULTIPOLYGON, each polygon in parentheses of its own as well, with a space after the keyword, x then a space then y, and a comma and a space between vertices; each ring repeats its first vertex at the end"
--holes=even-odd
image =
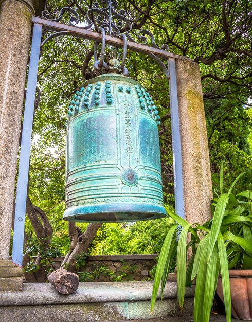
MULTIPOLYGON (((218 284, 222 285, 223 289, 221 297, 225 304, 226 320, 231 322, 229 270, 235 269, 238 272, 240 269, 252 269, 252 191, 232 194, 233 186, 242 175, 244 173, 236 178, 228 193, 223 193, 221 168, 221 195, 212 200, 212 218, 203 225, 188 223, 168 210, 175 224, 168 231, 160 252, 153 284, 151 311, 160 283, 161 297, 163 295, 171 264, 176 255, 179 306, 183 308, 185 288, 191 287, 192 280, 196 278, 194 322, 208 322, 221 274, 218 284), (188 234, 190 234, 189 243, 188 234), (192 256, 187 266, 189 248, 192 256)), ((250 272, 252 276, 252 270, 250 272)), ((250 283, 252 285, 252 279, 250 283)), ((251 294, 252 291, 250 297, 251 294)))

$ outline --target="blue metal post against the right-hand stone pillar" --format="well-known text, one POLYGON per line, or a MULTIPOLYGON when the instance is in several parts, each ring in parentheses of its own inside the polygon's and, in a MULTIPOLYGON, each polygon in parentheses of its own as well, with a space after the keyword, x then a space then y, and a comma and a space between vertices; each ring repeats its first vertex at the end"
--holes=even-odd
POLYGON ((173 175, 175 189, 175 210, 178 216, 185 218, 184 212, 184 191, 182 179, 182 156, 181 156, 181 137, 179 129, 179 114, 177 100, 177 80, 175 59, 169 58, 169 92, 171 104, 171 133, 172 133, 172 154, 173 154, 173 175))

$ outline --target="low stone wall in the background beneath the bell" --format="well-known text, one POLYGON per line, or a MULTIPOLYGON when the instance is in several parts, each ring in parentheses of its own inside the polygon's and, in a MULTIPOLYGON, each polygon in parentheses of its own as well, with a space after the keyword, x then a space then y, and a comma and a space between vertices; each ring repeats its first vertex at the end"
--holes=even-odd
MULTIPOLYGON (((151 269, 156 265, 157 254, 89 256, 79 271, 82 281, 142 281, 152 278, 151 269)), ((58 268, 64 257, 53 259, 58 268)))

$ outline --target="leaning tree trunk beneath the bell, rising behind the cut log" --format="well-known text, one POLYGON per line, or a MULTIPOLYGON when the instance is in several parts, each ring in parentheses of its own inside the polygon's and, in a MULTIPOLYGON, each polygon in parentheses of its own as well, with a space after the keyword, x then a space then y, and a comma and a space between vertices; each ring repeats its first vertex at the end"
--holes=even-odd
MULTIPOLYGON (((75 249, 71 254, 68 256, 67 261, 64 264, 68 264, 67 270, 69 272, 76 271, 76 260, 75 256, 80 255, 82 252, 86 253, 89 245, 96 235, 97 230, 102 226, 102 223, 91 223, 87 226, 86 230, 83 232, 82 235, 78 237, 77 244, 75 249)), ((62 263, 63 265, 63 263, 62 263)))

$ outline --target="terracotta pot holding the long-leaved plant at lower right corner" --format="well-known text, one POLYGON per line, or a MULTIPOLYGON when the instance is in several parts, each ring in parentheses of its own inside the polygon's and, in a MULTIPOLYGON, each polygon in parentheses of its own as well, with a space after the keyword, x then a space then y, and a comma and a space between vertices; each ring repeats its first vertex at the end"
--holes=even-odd
MULTIPOLYGON (((252 270, 229 270, 229 281, 233 317, 252 321, 252 270)), ((221 277, 216 291, 224 302, 221 277)))

